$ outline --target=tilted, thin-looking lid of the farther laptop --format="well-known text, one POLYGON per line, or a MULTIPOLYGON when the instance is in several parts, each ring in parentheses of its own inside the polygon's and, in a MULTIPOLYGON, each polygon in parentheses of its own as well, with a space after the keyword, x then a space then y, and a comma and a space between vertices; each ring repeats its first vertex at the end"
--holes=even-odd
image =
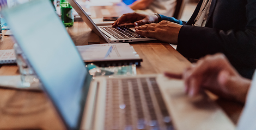
POLYGON ((76 2, 76 0, 67 0, 69 4, 76 10, 78 15, 83 19, 84 22, 89 26, 90 29, 92 29, 95 34, 100 36, 103 40, 105 40, 108 43, 111 43, 108 38, 103 34, 103 32, 97 27, 97 25, 93 22, 93 20, 89 17, 89 15, 86 14, 86 11, 83 10, 83 8, 76 2))

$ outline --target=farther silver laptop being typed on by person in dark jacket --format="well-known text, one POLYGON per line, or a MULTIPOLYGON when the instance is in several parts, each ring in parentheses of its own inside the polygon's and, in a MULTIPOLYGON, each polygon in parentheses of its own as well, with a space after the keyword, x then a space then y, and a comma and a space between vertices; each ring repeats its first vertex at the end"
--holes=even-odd
POLYGON ((143 37, 136 34, 134 27, 118 26, 112 28, 112 25, 97 26, 89 17, 86 11, 76 2, 76 0, 68 0, 69 4, 77 11, 78 15, 98 36, 108 43, 123 43, 123 42, 139 42, 156 40, 155 38, 143 37))

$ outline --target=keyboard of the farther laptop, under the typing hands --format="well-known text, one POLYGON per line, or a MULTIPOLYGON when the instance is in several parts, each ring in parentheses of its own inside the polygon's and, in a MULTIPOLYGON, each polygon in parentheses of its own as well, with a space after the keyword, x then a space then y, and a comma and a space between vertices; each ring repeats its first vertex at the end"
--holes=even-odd
POLYGON ((123 39, 130 39, 130 38, 144 38, 142 36, 139 36, 136 34, 136 32, 132 31, 131 29, 125 27, 125 26, 118 26, 118 27, 100 27, 101 29, 105 30, 113 36, 114 38, 118 40, 123 40, 123 39))

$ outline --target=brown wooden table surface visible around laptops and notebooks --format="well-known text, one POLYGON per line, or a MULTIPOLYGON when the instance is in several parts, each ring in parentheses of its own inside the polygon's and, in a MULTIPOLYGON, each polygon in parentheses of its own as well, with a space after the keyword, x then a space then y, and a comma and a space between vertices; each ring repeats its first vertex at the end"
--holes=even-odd
MULTIPOLYGON (((123 3, 113 6, 91 7, 92 18, 101 18, 101 9, 107 9, 113 16, 120 16, 132 10, 123 3), (93 15, 94 14, 94 15, 93 15)), ((106 43, 83 21, 74 23, 74 27, 67 28, 74 43, 86 45, 91 43, 106 43)), ((3 32, 3 34, 5 31, 3 32)), ((13 49, 13 37, 3 36, 0 49, 13 49)), ((168 43, 150 41, 131 43, 139 56, 143 59, 141 67, 137 67, 137 74, 156 74, 165 71, 181 73, 191 63, 168 43)), ((0 75, 18 75, 16 65, 4 65, 0 68, 0 75)), ((224 109, 230 119, 236 124, 243 105, 237 102, 220 100, 211 96, 224 109)), ((29 92, 25 90, 0 88, 0 129, 64 129, 51 101, 43 92, 29 92)))

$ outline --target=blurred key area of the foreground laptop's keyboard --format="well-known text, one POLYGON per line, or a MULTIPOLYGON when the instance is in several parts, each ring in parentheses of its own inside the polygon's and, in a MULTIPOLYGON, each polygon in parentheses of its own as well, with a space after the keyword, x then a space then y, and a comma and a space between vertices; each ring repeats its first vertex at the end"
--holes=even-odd
POLYGON ((174 129, 155 77, 107 80, 105 129, 174 129))

